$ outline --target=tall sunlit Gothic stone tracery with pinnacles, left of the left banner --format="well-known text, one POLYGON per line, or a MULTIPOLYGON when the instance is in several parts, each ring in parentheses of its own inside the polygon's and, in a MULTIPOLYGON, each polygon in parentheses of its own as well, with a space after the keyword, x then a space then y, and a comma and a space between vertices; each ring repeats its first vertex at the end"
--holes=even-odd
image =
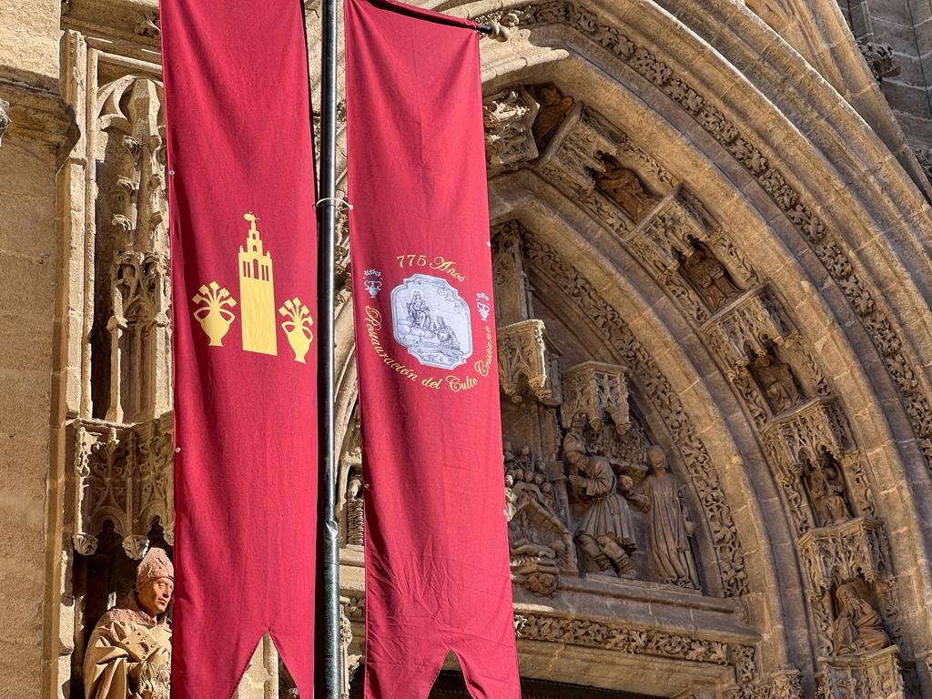
POLYGON ((171 409, 170 276, 162 86, 123 75, 98 89, 95 362, 106 418, 171 409), (104 321, 104 319, 106 319, 104 321), (109 341, 107 341, 109 340, 109 341), (105 358, 109 356, 109 361, 105 358))

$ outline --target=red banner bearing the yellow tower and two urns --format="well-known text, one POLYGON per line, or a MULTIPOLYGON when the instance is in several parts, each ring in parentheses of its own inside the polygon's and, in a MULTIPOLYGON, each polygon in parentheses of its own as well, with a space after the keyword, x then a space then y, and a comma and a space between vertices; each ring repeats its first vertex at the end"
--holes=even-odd
POLYGON ((295 361, 279 310, 298 297, 317 315, 302 8, 300 0, 161 0, 161 35, 180 449, 171 693, 226 699, 268 631, 309 698, 316 342, 305 363, 295 361), (240 248, 251 249, 247 212, 258 218, 271 275, 258 257, 254 269, 240 260, 240 248), (212 281, 237 302, 224 307, 234 317, 213 346, 194 316, 209 308, 195 299, 212 281), (244 348, 247 325, 274 338, 271 351, 244 348))

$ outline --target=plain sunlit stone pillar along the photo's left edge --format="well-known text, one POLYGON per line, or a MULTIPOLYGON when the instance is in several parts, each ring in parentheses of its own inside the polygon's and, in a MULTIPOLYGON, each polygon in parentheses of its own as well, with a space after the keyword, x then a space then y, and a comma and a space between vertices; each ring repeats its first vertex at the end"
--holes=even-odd
POLYGON ((70 644, 58 596, 43 596, 61 575, 56 175, 75 143, 59 24, 59 0, 0 7, 0 678, 22 699, 60 691, 51 678, 70 644))

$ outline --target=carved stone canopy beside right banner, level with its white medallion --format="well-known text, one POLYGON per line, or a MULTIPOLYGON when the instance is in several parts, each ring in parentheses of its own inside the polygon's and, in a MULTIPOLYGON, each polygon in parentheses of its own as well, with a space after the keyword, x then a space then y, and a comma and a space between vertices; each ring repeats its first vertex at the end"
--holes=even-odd
POLYGON ((499 381, 505 395, 521 403, 522 378, 545 405, 562 402, 556 357, 543 321, 514 322, 498 329, 499 381))

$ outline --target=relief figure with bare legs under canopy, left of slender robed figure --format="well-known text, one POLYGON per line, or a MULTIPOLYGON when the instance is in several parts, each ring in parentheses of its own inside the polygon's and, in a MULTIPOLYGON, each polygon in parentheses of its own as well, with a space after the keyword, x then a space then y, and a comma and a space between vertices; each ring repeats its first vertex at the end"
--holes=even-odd
POLYGON ((629 476, 616 477, 609 459, 586 455, 577 433, 567 434, 563 453, 569 462, 569 485, 585 504, 576 540, 586 557, 602 572, 614 569, 620 578, 637 577, 630 558, 637 540, 627 500, 644 506, 647 499, 634 492, 629 476))

